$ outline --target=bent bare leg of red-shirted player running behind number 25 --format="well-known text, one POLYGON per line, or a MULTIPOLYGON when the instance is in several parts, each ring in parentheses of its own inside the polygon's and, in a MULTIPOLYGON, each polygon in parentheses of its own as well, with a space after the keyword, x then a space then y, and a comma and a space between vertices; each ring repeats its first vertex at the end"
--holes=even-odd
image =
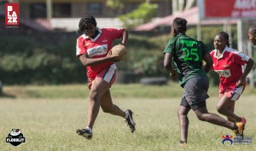
POLYGON ((230 100, 227 96, 223 96, 217 105, 218 113, 221 113, 231 119, 232 121, 241 121, 241 118, 234 113, 235 102, 230 100))

